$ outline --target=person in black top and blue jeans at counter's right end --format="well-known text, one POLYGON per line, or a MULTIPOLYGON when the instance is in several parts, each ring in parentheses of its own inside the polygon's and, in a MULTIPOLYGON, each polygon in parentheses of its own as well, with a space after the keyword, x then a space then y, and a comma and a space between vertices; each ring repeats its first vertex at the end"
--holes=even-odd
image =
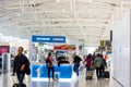
POLYGON ((73 63, 74 63, 74 72, 76 73, 76 75, 79 76, 79 67, 80 67, 80 62, 82 61, 82 59, 76 55, 75 53, 73 54, 73 63))

